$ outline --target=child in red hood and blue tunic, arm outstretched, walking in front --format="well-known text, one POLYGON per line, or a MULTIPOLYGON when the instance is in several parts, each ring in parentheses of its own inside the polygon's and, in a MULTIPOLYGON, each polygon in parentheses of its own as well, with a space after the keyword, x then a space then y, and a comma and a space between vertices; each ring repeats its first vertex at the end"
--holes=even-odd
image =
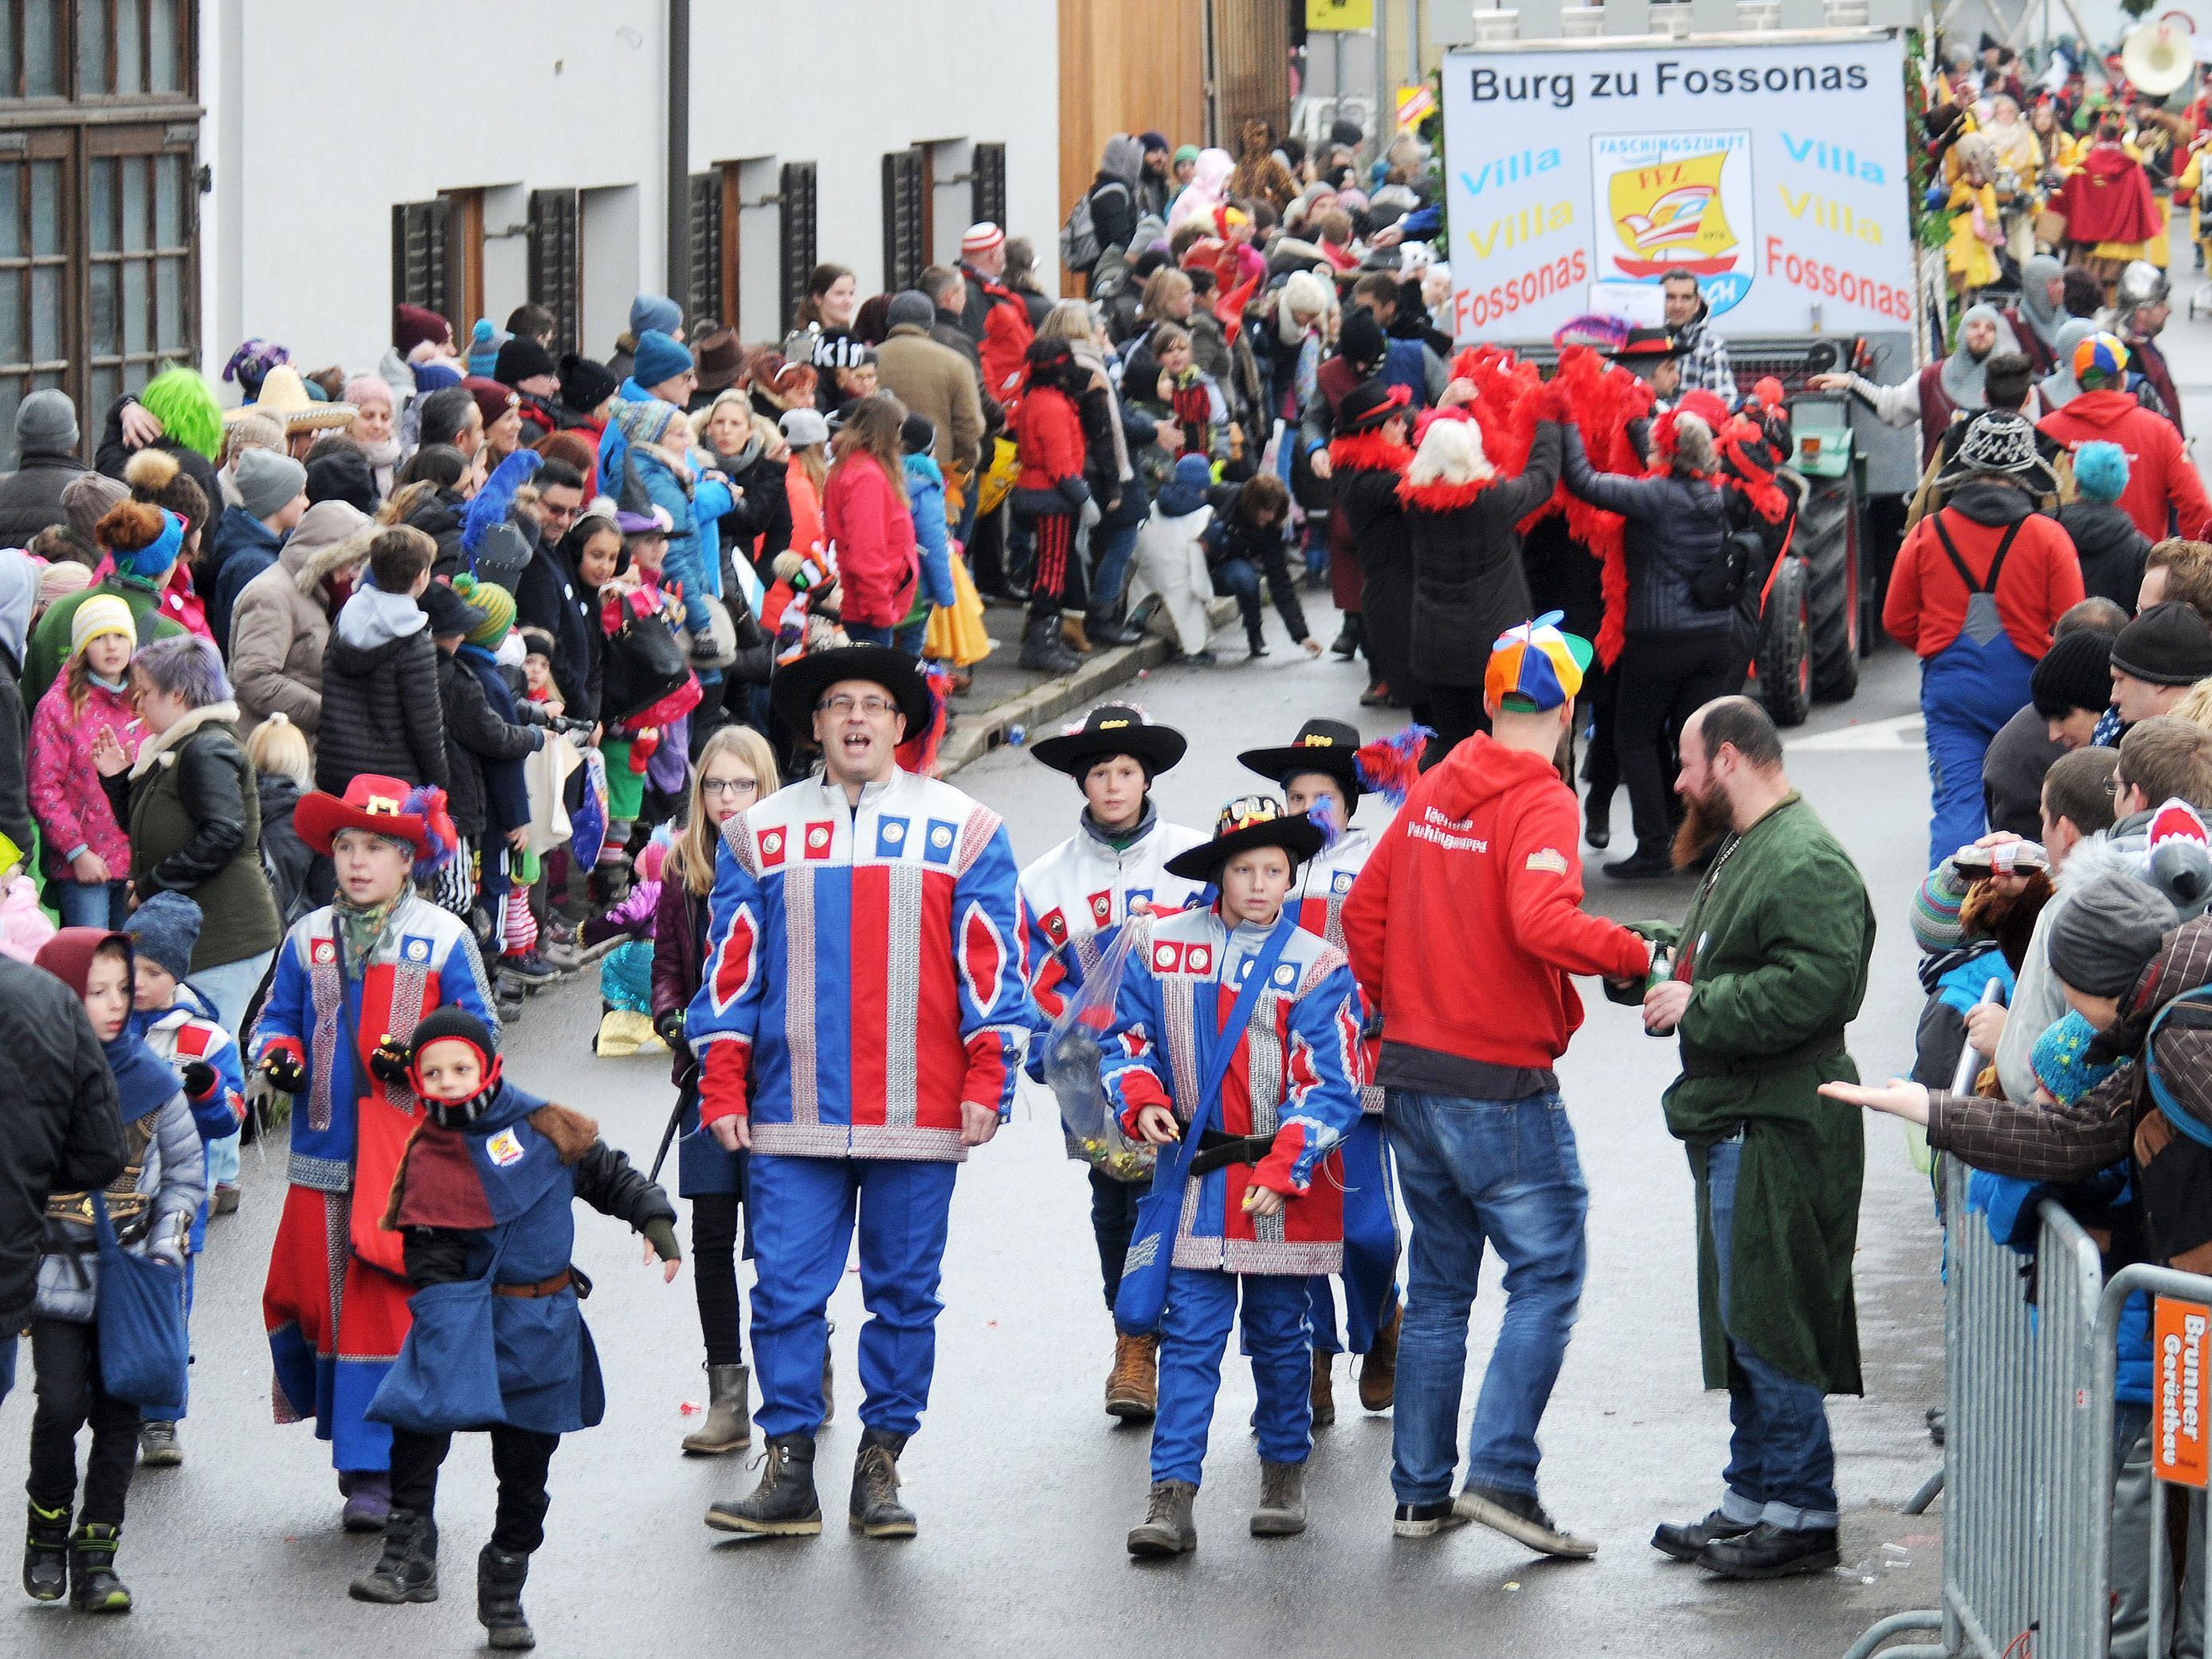
POLYGON ((385 1037, 369 1066, 427 1115, 380 1221, 403 1241, 414 1325, 369 1402, 372 1418, 392 1425, 392 1520, 383 1557, 352 1595, 438 1599, 438 1467, 456 1431, 482 1429, 500 1506, 476 1557, 476 1617, 493 1648, 531 1648, 522 1584, 544 1544, 546 1467, 564 1433, 606 1413, 582 1312, 591 1283, 568 1265, 573 1206, 582 1199, 641 1232, 664 1283, 677 1276, 677 1212, 593 1119, 500 1077, 498 1037, 467 1009, 425 1015, 411 1044, 385 1037), (482 1301, 451 1292, 487 1283, 489 1327, 482 1301))

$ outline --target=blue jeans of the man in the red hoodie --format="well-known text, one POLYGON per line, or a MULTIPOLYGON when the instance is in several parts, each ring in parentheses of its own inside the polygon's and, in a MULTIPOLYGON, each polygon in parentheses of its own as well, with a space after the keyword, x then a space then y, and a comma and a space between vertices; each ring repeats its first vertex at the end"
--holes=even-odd
POLYGON ((1451 1495, 1467 1378, 1467 1316, 1489 1243, 1506 1265, 1506 1316, 1467 1433, 1467 1484, 1533 1495, 1535 1429, 1566 1360, 1588 1248, 1575 1128, 1557 1093, 1462 1099, 1391 1088, 1383 1108, 1413 1243, 1391 1489, 1400 1504, 1451 1495))

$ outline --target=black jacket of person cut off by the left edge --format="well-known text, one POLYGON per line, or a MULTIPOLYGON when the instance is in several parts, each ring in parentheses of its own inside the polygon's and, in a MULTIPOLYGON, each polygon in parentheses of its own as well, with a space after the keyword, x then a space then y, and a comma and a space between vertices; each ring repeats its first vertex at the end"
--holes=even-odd
POLYGON ((124 1168, 115 1073, 77 993, 0 956, 0 1332, 31 1318, 46 1197, 124 1168))

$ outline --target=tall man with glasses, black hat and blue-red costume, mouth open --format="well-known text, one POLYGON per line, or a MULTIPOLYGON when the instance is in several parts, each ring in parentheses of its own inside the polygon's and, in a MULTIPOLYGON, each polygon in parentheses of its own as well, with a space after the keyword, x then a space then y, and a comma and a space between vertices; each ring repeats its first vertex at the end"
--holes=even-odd
POLYGON ((728 1533, 821 1531, 830 1292, 860 1234, 860 1455, 852 1524, 911 1537, 898 1455, 936 1369, 953 1175, 1013 1102, 1035 1026, 1013 847, 998 814, 898 768, 931 726, 914 657, 818 650, 770 688, 823 770, 723 825, 710 945, 684 1035, 699 1121, 750 1148, 761 1484, 708 1509, 728 1533))

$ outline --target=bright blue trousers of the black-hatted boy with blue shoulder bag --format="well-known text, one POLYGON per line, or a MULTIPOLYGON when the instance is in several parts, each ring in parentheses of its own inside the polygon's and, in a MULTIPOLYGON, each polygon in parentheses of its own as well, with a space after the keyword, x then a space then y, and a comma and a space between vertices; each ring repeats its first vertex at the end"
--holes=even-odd
MULTIPOLYGON (((1159 1416, 1152 1418, 1152 1480, 1199 1484, 1206 1431, 1221 1394, 1221 1354, 1243 1296, 1243 1347, 1259 1389, 1259 1455, 1305 1462, 1314 1447, 1314 1360, 1305 1347, 1305 1279, 1228 1274, 1206 1267, 1168 1272, 1168 1312, 1159 1323, 1159 1416)), ((759 1338, 754 1338, 759 1343, 759 1338)))

